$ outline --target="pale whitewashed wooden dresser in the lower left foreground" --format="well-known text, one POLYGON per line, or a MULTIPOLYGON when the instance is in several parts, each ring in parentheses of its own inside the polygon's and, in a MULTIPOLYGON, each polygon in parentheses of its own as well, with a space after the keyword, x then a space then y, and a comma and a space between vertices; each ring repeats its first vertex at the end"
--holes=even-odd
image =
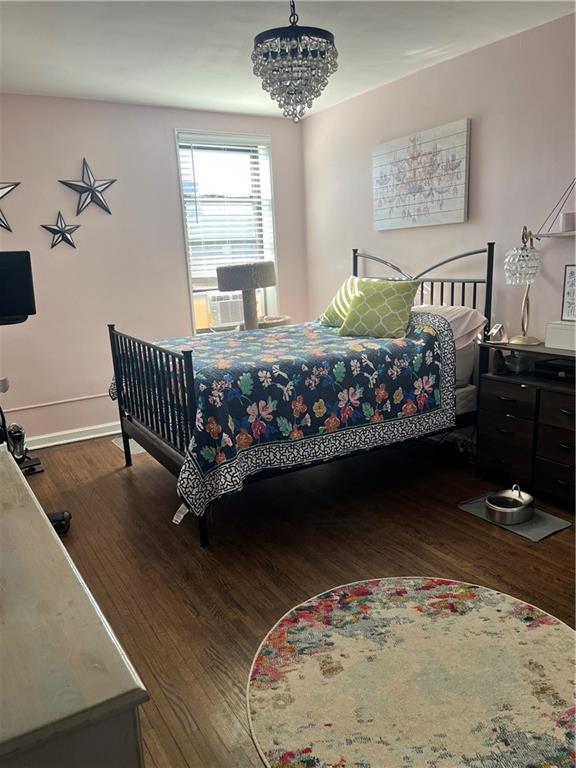
POLYGON ((148 694, 0 445, 0 766, 143 766, 148 694))

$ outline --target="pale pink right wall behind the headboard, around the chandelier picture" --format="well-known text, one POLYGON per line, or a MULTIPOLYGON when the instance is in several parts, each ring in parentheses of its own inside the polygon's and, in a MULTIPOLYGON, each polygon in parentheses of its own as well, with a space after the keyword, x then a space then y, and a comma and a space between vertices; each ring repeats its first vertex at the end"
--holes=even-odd
MULTIPOLYGON (((416 272, 495 240, 494 318, 519 332, 523 289, 504 284, 503 254, 519 245, 523 224, 540 226, 574 176, 574 16, 377 88, 303 127, 311 313, 350 274, 353 247, 416 272), (463 117, 472 120, 468 222, 375 231, 374 145, 463 117)), ((560 319, 574 239, 538 247, 543 272, 532 289, 531 330, 543 338, 546 322, 560 319)), ((480 263, 461 273, 481 274, 480 263)))

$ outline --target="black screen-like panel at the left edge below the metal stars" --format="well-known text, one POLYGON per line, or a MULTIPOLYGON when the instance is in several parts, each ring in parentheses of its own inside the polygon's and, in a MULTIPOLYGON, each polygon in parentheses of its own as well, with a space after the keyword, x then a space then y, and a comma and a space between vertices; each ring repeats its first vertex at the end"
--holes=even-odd
POLYGON ((36 314, 28 251, 0 253, 0 325, 23 323, 36 314))

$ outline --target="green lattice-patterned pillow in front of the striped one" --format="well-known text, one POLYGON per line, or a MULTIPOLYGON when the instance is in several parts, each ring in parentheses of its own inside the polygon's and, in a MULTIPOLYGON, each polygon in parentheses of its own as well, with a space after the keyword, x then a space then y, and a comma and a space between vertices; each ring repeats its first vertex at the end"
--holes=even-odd
POLYGON ((406 335, 418 280, 370 280, 357 286, 340 336, 397 339, 406 335))

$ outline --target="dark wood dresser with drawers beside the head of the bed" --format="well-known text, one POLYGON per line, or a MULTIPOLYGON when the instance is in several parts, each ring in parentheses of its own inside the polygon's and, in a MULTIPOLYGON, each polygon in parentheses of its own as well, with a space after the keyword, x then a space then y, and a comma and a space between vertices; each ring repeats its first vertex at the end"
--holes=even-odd
MULTIPOLYGON (((574 353, 543 345, 483 346, 500 349, 503 354, 514 350, 530 355, 532 368, 537 360, 569 362, 574 358, 574 353)), ((479 473, 573 505, 573 381, 548 378, 531 370, 522 374, 486 373, 479 384, 479 473)))

